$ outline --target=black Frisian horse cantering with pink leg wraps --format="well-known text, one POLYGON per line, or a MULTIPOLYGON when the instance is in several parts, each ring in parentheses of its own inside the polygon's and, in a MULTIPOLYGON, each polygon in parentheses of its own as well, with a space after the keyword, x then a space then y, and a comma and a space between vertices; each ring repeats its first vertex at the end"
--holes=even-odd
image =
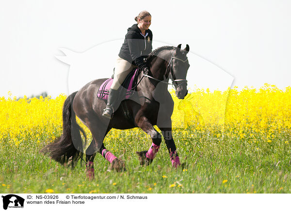
POLYGON ((126 130, 139 127, 150 135, 153 143, 149 150, 137 152, 141 165, 144 165, 152 162, 162 142, 160 133, 153 127, 157 125, 162 131, 173 167, 179 166, 179 157, 172 137, 171 115, 174 101, 167 86, 171 78, 176 96, 183 99, 187 95, 186 75, 190 66, 186 56, 188 52, 189 46, 181 49, 181 44, 178 47, 161 47, 151 52, 146 60, 150 72, 148 75, 139 75, 140 82, 133 95, 135 100, 123 100, 111 120, 102 116, 106 102, 97 97, 97 90, 106 79, 87 83, 81 90, 66 98, 63 108, 63 134, 41 151, 49 153, 52 159, 62 164, 68 161, 73 164, 82 158, 84 145, 80 131, 84 136, 85 133, 76 122, 76 114, 90 129, 93 137, 86 149, 86 170, 89 179, 94 178, 93 161, 97 152, 112 163, 113 169, 125 170, 124 162, 106 150, 103 144, 106 134, 112 128, 126 130), (124 108, 127 108, 130 118, 125 116, 124 108))

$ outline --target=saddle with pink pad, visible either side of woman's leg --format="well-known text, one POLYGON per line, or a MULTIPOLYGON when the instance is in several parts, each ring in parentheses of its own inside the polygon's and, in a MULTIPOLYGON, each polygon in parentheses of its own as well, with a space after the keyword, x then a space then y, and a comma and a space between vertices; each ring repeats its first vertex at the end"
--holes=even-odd
MULTIPOLYGON (((121 84, 119 88, 121 99, 129 99, 129 97, 133 95, 134 91, 136 91, 135 86, 138 81, 138 76, 141 72, 142 72, 141 69, 137 68, 135 71, 132 71, 131 73, 129 73, 129 75, 126 77, 126 79, 124 80, 124 82, 121 84), (135 88, 132 89, 133 87, 135 88)), ((112 83, 113 83, 113 76, 112 78, 107 79, 100 85, 97 91, 97 97, 99 99, 102 99, 105 101, 108 100, 109 89, 112 83)))

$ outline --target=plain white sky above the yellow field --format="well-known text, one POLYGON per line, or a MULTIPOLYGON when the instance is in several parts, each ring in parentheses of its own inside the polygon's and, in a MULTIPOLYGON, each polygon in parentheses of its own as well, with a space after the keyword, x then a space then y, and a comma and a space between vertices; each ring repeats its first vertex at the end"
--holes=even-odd
POLYGON ((291 85, 288 0, 11 0, 0 1, 0 96, 47 91, 54 97, 68 94, 70 80, 74 89, 100 74, 110 77, 127 28, 142 10, 152 15, 154 48, 189 44, 190 88, 223 89, 232 77, 232 87, 291 85), (87 57, 70 68, 56 59, 60 48, 87 57), (104 49, 108 55, 94 57, 104 49))

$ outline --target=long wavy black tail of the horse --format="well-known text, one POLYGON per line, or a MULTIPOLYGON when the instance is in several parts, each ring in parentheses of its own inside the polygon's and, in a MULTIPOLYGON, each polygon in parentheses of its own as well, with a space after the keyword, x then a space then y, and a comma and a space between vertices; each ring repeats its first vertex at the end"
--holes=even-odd
POLYGON ((83 142, 80 131, 85 137, 85 131, 77 124, 76 114, 72 108, 72 103, 77 92, 74 92, 65 99, 63 107, 63 134, 40 150, 62 164, 74 164, 83 156, 83 142))

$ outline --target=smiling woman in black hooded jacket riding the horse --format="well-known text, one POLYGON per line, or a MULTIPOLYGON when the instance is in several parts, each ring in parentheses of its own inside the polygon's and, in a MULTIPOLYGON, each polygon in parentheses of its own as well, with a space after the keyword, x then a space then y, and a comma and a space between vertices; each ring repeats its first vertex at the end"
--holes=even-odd
POLYGON ((152 50, 152 32, 148 29, 151 24, 151 15, 147 11, 142 11, 136 16, 136 24, 128 28, 124 43, 117 57, 113 83, 109 89, 106 108, 103 110, 103 116, 112 118, 113 112, 118 108, 119 87, 128 76, 128 74, 137 67, 144 73, 149 70, 144 63, 144 58, 152 50))

